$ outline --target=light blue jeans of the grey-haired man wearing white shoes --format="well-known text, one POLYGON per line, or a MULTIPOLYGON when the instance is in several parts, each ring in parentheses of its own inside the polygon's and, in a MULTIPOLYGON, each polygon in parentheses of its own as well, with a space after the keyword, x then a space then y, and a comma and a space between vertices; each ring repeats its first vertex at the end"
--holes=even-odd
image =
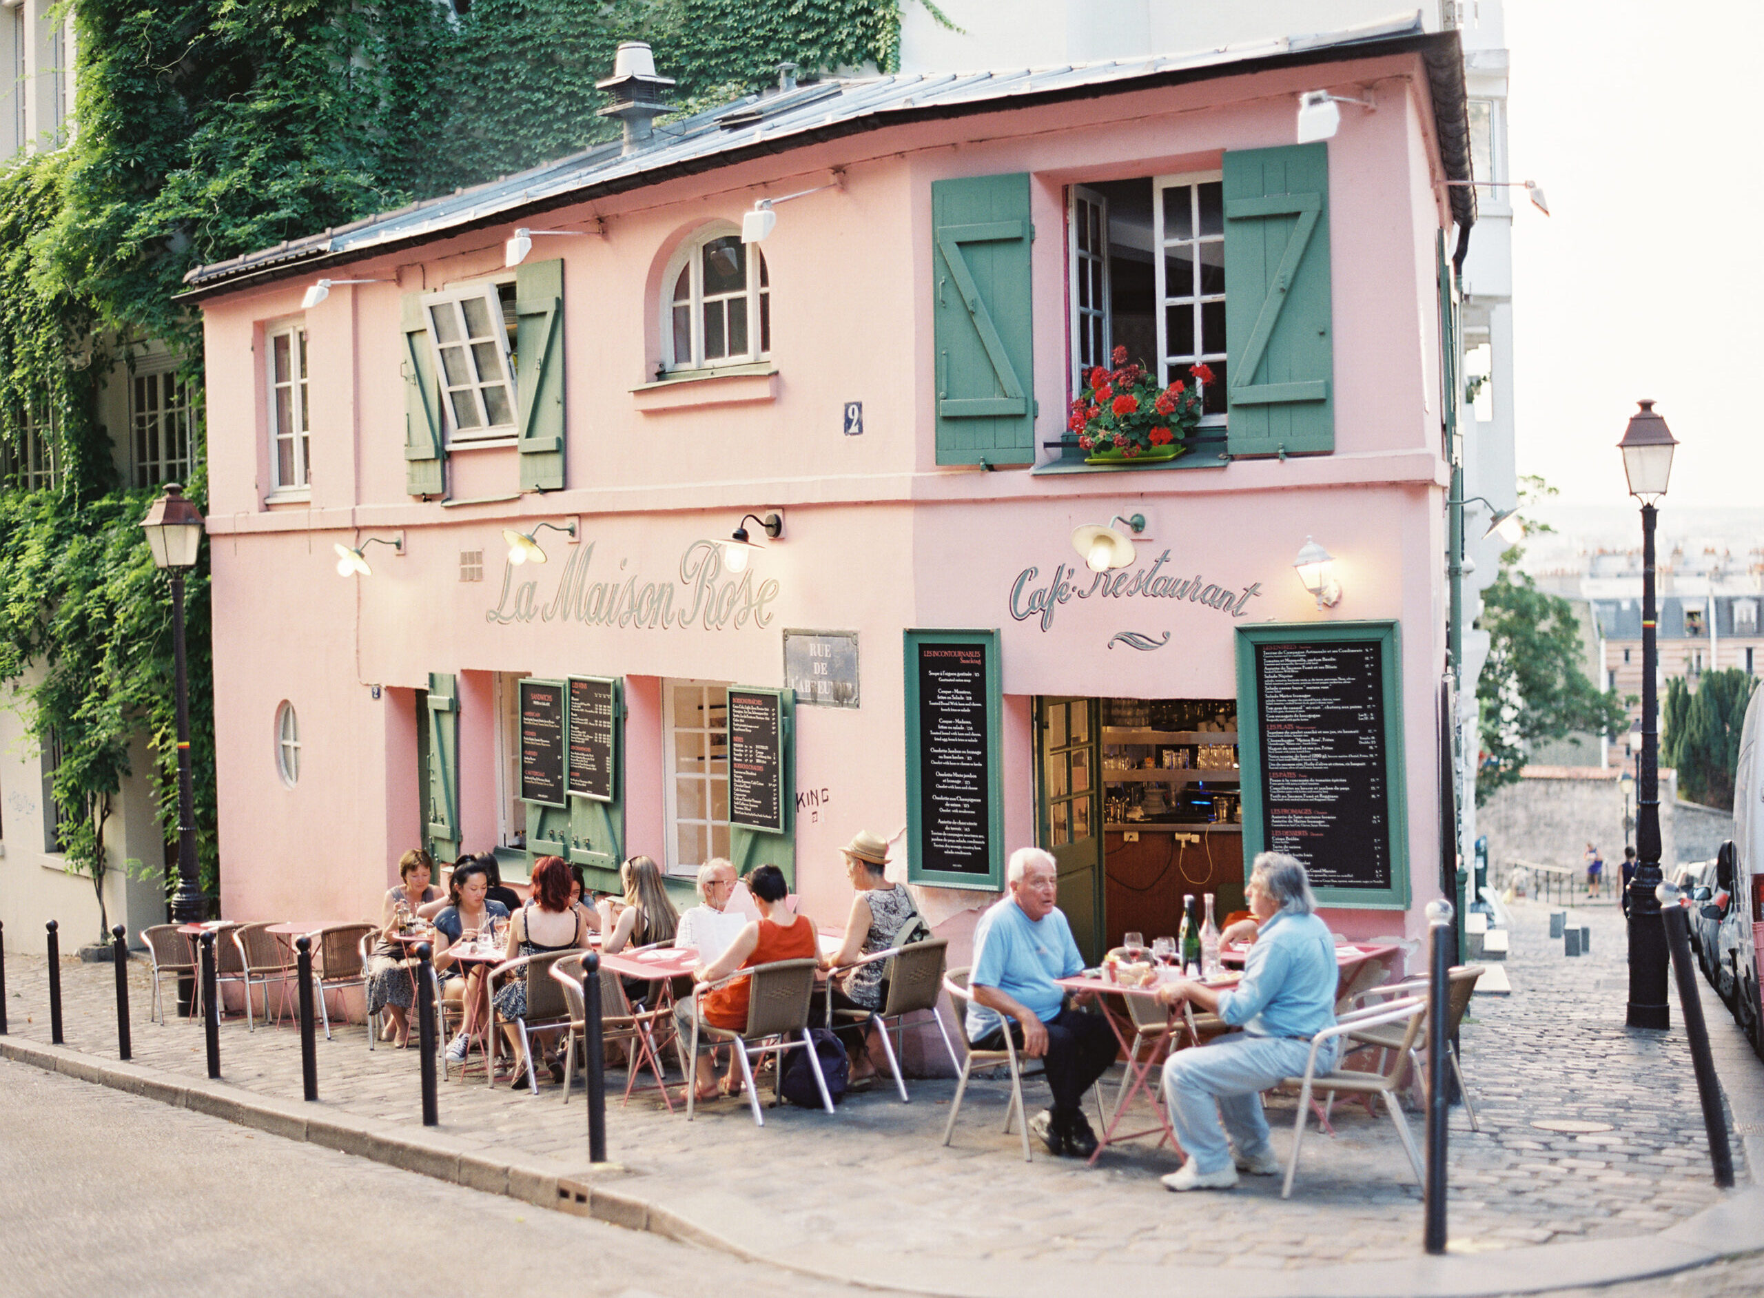
MULTIPOLYGON (((1318 1072, 1335 1063, 1335 1042, 1318 1055, 1318 1072)), ((1302 1078, 1311 1056, 1309 1041, 1251 1037, 1238 1032, 1210 1046, 1178 1049, 1164 1062, 1164 1102, 1184 1152, 1201 1173, 1231 1166, 1226 1132, 1245 1159, 1268 1148, 1268 1120, 1261 1092, 1286 1078, 1302 1078), (1224 1118, 1224 1130, 1219 1120, 1224 1118)))

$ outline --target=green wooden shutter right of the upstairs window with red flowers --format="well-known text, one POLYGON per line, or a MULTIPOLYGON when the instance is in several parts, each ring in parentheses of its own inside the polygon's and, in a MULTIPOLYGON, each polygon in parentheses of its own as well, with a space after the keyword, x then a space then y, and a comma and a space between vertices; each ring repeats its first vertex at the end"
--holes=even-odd
POLYGON ((1224 155, 1231 455, 1335 450, 1328 148, 1224 155))

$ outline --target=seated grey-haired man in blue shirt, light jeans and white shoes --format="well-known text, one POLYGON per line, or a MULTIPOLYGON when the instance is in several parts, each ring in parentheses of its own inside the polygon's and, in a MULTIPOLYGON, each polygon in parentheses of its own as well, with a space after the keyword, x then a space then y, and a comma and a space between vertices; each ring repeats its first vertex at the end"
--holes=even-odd
MULTIPOLYGON (((1335 938, 1316 917, 1305 868, 1284 852, 1263 852, 1249 875, 1249 910, 1259 924, 1230 991, 1178 981, 1157 989, 1166 1005, 1184 1000, 1244 1032, 1182 1049, 1164 1063, 1164 1100, 1189 1160, 1162 1178, 1171 1190, 1237 1185, 1238 1169, 1272 1176, 1281 1169, 1268 1145, 1261 1092, 1305 1070, 1311 1037, 1335 1023, 1335 938), (1231 1134, 1226 1145, 1226 1130, 1231 1134)), ((1335 1065, 1335 1042, 1318 1069, 1335 1065)))

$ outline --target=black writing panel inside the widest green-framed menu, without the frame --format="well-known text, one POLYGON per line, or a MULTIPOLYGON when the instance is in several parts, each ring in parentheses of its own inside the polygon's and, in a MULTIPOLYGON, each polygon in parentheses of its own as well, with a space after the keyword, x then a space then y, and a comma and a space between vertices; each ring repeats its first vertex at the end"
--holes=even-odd
POLYGON ((1383 645, 1256 645, 1263 841, 1314 887, 1388 889, 1383 645))

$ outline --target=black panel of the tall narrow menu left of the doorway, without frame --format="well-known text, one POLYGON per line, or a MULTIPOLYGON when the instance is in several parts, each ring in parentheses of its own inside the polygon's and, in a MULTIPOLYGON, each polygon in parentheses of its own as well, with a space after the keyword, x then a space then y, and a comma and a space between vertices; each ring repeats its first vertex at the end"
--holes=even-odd
POLYGON ((984 644, 919 645, 921 869, 991 869, 991 718, 984 644))

